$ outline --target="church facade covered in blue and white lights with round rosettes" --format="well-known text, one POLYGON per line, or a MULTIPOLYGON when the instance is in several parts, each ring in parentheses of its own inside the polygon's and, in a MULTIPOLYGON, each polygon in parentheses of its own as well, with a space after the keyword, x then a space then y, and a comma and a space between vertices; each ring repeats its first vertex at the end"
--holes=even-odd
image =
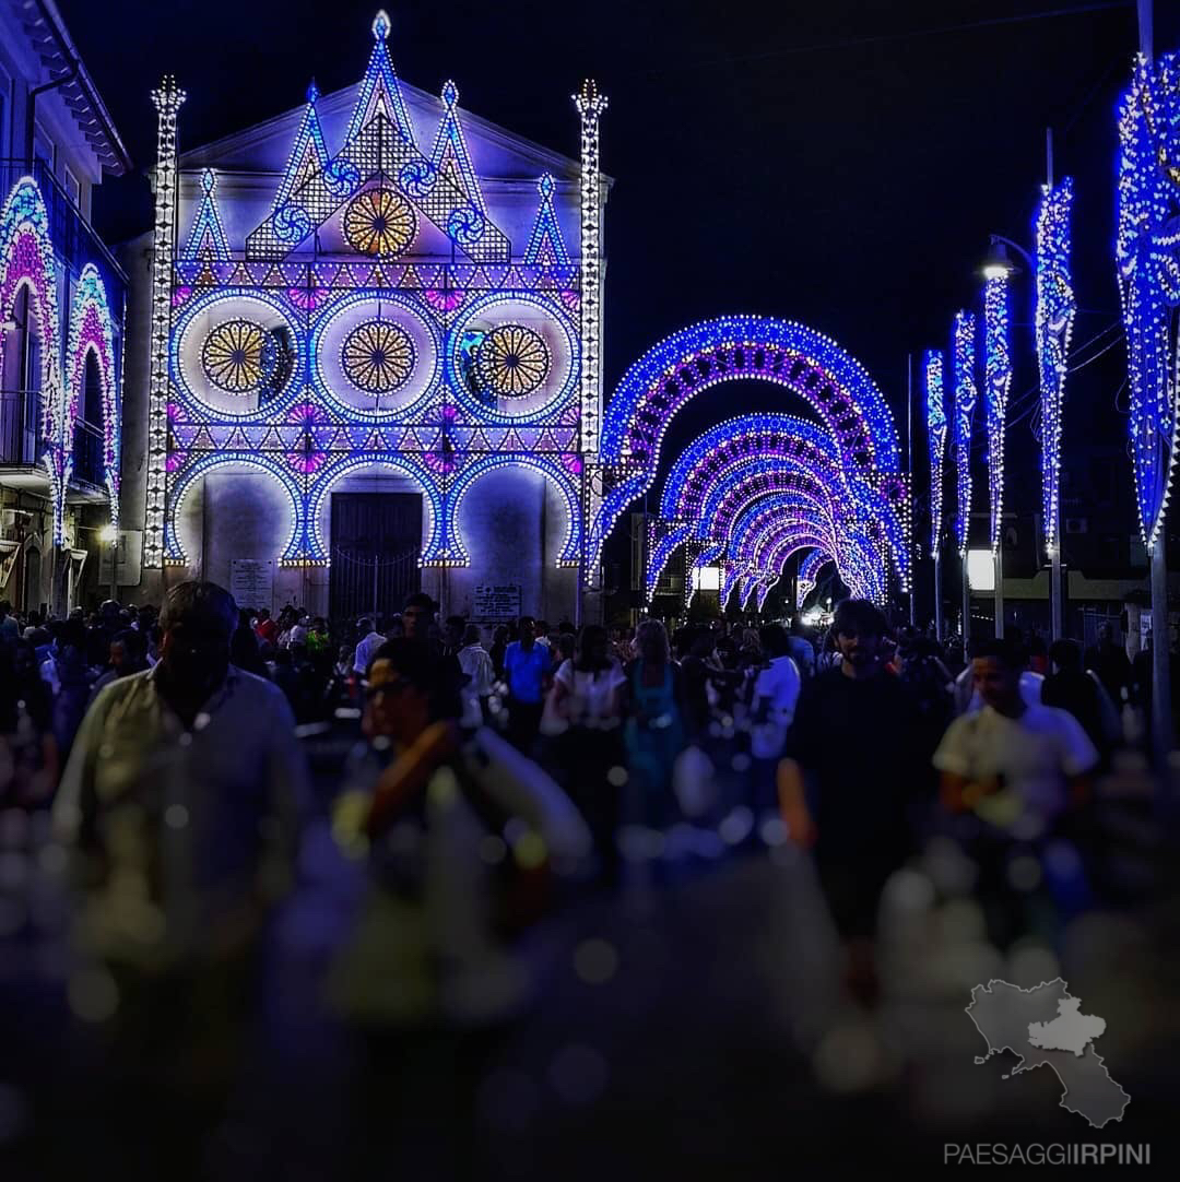
POLYGON ((184 93, 154 92, 155 226, 124 255, 142 593, 203 577, 344 619, 421 586, 475 619, 572 617, 594 589, 605 100, 575 96, 566 158, 454 83, 407 85, 384 13, 371 33, 356 86, 181 155, 184 93))

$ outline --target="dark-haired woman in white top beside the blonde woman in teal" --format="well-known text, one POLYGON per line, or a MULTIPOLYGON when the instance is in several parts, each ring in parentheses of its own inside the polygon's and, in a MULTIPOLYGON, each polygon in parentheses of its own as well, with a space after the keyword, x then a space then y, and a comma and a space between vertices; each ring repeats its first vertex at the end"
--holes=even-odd
POLYGON ((609 654, 604 628, 588 624, 571 661, 553 677, 545 703, 543 730, 555 736, 555 761, 566 792, 582 811, 594 837, 602 882, 618 882, 616 830, 620 779, 612 768, 623 765, 622 690, 627 684, 620 663, 609 654))

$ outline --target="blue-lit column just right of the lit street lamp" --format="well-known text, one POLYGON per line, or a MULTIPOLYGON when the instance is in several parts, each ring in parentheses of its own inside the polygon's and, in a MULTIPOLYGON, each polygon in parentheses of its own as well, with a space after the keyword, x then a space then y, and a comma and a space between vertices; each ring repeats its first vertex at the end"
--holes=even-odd
POLYGON ((1074 182, 1066 177, 1042 189, 1037 210, 1037 363, 1040 372, 1040 501, 1045 548, 1052 564, 1052 638, 1062 637, 1061 449, 1065 374, 1077 300, 1069 272, 1070 207, 1074 182))

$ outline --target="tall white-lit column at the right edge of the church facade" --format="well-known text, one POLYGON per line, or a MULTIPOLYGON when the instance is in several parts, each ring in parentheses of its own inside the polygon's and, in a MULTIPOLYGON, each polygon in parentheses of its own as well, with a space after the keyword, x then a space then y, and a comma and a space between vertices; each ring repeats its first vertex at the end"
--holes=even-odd
MULTIPOLYGON (((573 96, 582 119, 581 255, 582 372, 578 383, 578 450, 582 457, 584 520, 598 515, 601 492, 598 444, 602 434, 602 181, 598 168, 598 121, 607 110, 607 96, 598 93, 592 78, 582 83, 573 96)), ((584 550, 584 547, 583 547, 584 550)), ((578 569, 577 610, 582 623, 582 590, 589 572, 584 558, 578 569)))

